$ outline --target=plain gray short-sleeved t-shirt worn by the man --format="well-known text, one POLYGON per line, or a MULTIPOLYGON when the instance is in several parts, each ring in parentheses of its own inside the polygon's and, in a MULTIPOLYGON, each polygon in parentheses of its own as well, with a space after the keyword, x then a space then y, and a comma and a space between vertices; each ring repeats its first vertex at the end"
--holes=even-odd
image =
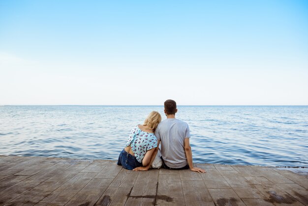
POLYGON ((158 124, 155 136, 161 142, 161 156, 169 168, 183 168, 187 165, 184 140, 190 135, 186 122, 167 118, 158 124))

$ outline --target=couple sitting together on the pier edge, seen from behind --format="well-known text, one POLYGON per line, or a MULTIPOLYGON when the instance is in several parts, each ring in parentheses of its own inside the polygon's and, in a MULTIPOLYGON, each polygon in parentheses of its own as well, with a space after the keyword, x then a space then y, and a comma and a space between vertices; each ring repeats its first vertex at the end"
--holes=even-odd
POLYGON ((126 147, 120 153, 118 165, 127 170, 149 170, 161 142, 160 158, 163 168, 205 172, 201 168, 193 167, 189 127, 187 123, 175 118, 178 111, 176 102, 167 100, 164 107, 166 120, 160 122, 160 114, 152 111, 143 125, 136 125, 132 129, 126 147))

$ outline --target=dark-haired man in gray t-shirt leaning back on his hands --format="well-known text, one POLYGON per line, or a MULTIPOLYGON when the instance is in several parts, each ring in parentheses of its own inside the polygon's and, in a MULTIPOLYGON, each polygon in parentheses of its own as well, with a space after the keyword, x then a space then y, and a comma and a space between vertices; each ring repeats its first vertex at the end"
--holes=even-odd
MULTIPOLYGON (((163 160, 163 168, 170 170, 185 170, 190 169, 194 172, 205 172, 201 168, 193 167, 192 153, 189 144, 189 127, 184 121, 175 118, 177 113, 177 103, 173 100, 166 100, 164 103, 164 112, 167 119, 160 122, 155 131, 157 137, 157 144, 161 142, 161 159, 163 160)), ((157 153, 158 146, 154 151, 157 153)), ((151 164, 155 155, 151 159, 151 164)), ((135 168, 135 171, 149 170, 151 164, 148 167, 135 168)))

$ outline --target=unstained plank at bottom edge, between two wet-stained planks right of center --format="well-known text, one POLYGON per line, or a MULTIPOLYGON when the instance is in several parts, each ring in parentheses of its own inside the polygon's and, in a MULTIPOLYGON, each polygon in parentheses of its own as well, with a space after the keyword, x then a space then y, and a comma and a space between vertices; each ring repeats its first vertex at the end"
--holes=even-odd
POLYGON ((203 181, 182 181, 186 206, 215 206, 203 181))

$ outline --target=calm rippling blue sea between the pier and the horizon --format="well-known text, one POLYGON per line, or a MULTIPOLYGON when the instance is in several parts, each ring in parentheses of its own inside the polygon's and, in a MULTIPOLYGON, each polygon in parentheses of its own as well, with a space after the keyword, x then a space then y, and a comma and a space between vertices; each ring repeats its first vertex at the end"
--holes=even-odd
MULTIPOLYGON (((308 106, 178 106, 194 163, 308 167, 308 106)), ((163 106, 0 106, 0 155, 116 160, 163 106)))

